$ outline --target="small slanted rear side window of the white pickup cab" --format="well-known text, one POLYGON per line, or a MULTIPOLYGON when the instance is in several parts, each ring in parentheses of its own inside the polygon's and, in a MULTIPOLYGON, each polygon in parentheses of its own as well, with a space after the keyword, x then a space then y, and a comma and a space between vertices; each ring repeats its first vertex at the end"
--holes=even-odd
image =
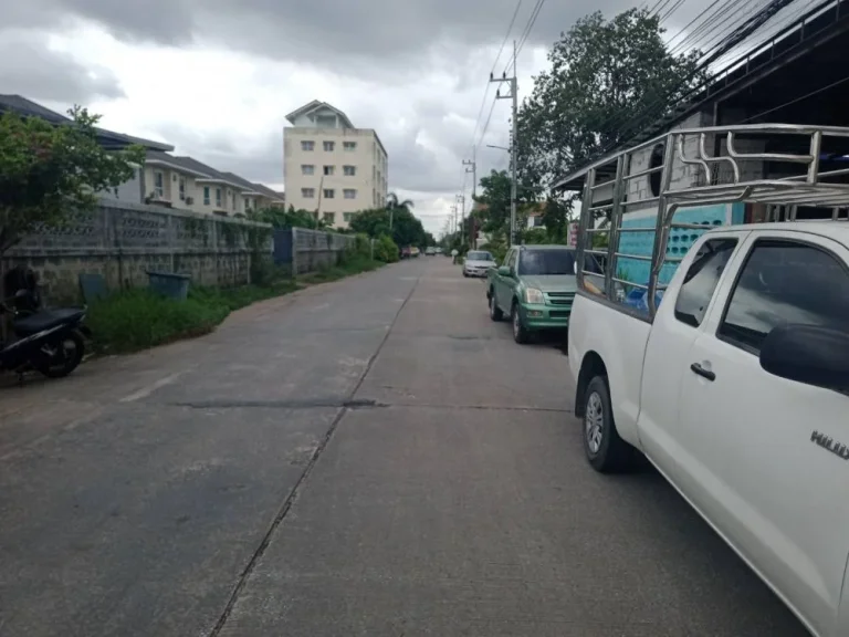
POLYGON ((702 324, 722 272, 736 246, 736 239, 713 239, 699 248, 678 292, 675 318, 693 327, 702 324))

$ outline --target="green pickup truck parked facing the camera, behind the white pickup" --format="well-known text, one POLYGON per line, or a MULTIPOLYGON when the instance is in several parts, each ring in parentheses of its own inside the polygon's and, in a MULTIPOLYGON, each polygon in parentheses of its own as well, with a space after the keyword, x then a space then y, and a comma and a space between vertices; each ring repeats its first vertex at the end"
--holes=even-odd
POLYGON ((574 248, 511 248, 503 264, 486 276, 490 318, 510 315, 516 343, 527 343, 534 332, 567 328, 577 291, 575 272, 574 248))

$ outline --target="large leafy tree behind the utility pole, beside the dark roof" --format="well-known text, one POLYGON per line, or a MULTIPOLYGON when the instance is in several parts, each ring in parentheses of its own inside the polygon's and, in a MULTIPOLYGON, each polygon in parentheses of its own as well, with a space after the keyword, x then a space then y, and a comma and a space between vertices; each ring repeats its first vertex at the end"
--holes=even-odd
POLYGON ((669 113, 704 81, 699 52, 672 55, 658 15, 629 9, 577 21, 548 53, 516 121, 524 184, 548 188, 669 113))

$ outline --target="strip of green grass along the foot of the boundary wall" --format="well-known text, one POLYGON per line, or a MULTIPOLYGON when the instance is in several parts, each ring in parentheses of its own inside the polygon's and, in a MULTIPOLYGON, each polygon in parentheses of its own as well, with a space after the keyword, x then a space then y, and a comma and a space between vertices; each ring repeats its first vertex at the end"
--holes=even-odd
POLYGON ((191 286, 186 301, 165 299, 143 288, 124 290, 90 305, 85 322, 94 335, 95 353, 126 354, 209 334, 235 310, 289 294, 302 284, 336 281, 380 265, 378 261, 355 258, 342 265, 298 276, 296 282, 275 278, 268 285, 191 286))

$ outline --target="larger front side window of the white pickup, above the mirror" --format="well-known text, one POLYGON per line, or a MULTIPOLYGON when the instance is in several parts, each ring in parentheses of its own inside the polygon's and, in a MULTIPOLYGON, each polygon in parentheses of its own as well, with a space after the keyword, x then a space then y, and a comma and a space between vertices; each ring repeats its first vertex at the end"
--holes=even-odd
POLYGON ((826 250, 795 241, 755 243, 716 335, 753 353, 779 325, 849 331, 849 274, 826 250))

